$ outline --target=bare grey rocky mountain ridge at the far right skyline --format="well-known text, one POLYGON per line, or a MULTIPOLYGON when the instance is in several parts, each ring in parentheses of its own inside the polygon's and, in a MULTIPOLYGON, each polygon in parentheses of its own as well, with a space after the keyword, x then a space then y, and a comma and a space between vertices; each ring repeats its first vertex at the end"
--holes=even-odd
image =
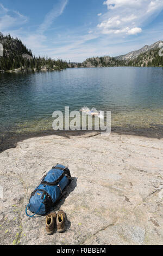
POLYGON ((128 60, 131 61, 131 60, 137 58, 141 53, 145 53, 145 52, 148 52, 148 51, 151 51, 154 49, 158 49, 160 43, 163 43, 163 41, 157 41, 156 43, 154 43, 152 45, 145 45, 137 51, 131 51, 131 52, 127 53, 126 55, 117 56, 117 57, 115 57, 115 59, 117 59, 118 61, 128 61, 128 60))

